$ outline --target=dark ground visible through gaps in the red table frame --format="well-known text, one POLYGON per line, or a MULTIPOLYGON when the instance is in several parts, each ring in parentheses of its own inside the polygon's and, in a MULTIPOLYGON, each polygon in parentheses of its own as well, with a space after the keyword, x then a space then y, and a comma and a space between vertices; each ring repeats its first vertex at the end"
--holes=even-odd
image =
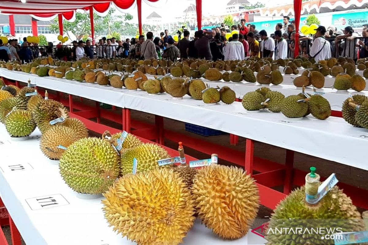
MULTIPOLYGON (((119 109, 117 109, 116 112, 119 112, 119 109)), ((118 116, 120 117, 120 115, 117 115, 117 117, 118 116)), ((146 123, 152 123, 152 124, 155 123, 154 115, 139 112, 139 111, 132 111, 131 118, 136 119, 136 120, 141 120, 146 123)), ((113 123, 108 120, 102 119, 101 123, 111 126, 111 127, 116 127, 118 129, 121 129, 121 125, 118 125, 117 123, 113 123)), ((194 133, 185 131, 185 124, 183 122, 179 122, 179 121, 171 120, 167 118, 164 119, 164 127, 165 129, 169 129, 172 131, 179 131, 181 133, 185 133, 187 136, 205 140, 205 141, 215 143, 218 145, 226 146, 231 149, 236 149, 238 151, 245 150, 245 138, 239 138, 239 144, 236 146, 233 146, 233 145, 230 145, 229 143, 229 134, 223 134, 220 136, 210 136, 210 137, 200 136, 198 134, 194 134, 194 133)), ((100 135, 94 132, 90 132, 90 136, 100 136, 100 135)), ((177 146, 178 146, 177 142, 173 142, 169 140, 165 140, 165 145, 173 149, 177 149, 177 146)), ((214 149, 214 152, 216 152, 216 149, 214 149)), ((208 155, 202 152, 196 151, 195 149, 191 149, 191 148, 185 148, 185 153, 195 158, 198 158, 198 159, 208 158, 208 155)), ((260 143, 260 142, 255 142, 254 154, 257 157, 268 159, 270 161, 281 163, 281 164, 284 163, 284 159, 285 159, 284 149, 275 147, 272 145, 260 143)), ((347 152, 347 154, 350 154, 350 153, 347 152)), ((222 164, 226 164, 226 165, 231 164, 229 162, 222 161, 221 159, 219 159, 219 162, 222 164)), ((368 171, 364 171, 364 170, 357 169, 354 167, 349 167, 347 165, 339 164, 336 162, 326 161, 324 159, 301 154, 298 152, 295 153, 294 167, 296 169, 308 171, 310 166, 318 166, 318 173, 321 174, 321 176, 329 176, 332 172, 335 172, 339 181, 346 183, 346 184, 353 185, 353 186, 368 189, 368 181, 367 181, 368 171)), ((280 189, 280 191, 282 191, 282 189, 280 189)), ((362 209, 359 209, 359 210, 360 212, 363 211, 362 209)), ((252 228, 260 226, 264 222, 264 219, 268 219, 270 217, 271 213, 272 213, 271 209, 266 208, 265 206, 261 206, 258 212, 258 216, 254 224, 252 225, 252 228)), ((10 229, 8 227, 3 227, 3 231, 8 238, 9 245, 12 245, 10 241, 10 229)), ((25 243, 23 242, 22 245, 24 244, 25 243)))

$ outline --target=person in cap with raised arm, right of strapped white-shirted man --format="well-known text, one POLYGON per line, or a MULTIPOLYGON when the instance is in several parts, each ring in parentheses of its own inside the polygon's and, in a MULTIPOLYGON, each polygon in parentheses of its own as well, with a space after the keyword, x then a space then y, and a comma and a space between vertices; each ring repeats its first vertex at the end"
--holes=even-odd
POLYGON ((357 50, 355 48, 355 44, 357 43, 357 33, 354 33, 354 30, 351 26, 346 26, 343 30, 344 34, 339 35, 335 39, 335 46, 338 50, 339 43, 343 46, 342 56, 352 58, 354 61, 357 61, 357 50), (342 43, 342 39, 345 39, 345 42, 342 43))

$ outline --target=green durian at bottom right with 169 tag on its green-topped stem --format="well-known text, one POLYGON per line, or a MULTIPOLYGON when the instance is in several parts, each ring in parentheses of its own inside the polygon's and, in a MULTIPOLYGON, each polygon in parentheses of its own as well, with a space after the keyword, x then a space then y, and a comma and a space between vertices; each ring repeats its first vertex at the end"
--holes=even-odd
POLYGON ((346 194, 333 187, 316 206, 305 202, 305 188, 291 192, 277 205, 269 221, 265 239, 267 245, 279 244, 334 244, 333 239, 321 238, 318 233, 277 232, 284 227, 300 227, 311 231, 315 227, 328 227, 324 234, 336 233, 336 228, 344 232, 361 231, 364 228, 360 213, 346 194))

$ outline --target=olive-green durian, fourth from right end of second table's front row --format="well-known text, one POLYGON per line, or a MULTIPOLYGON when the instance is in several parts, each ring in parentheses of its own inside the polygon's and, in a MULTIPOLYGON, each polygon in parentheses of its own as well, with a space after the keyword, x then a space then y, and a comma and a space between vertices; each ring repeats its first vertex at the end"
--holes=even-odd
POLYGON ((307 101, 303 102, 304 98, 298 95, 290 95, 283 99, 281 103, 281 112, 287 118, 301 118, 305 116, 308 112, 307 101))

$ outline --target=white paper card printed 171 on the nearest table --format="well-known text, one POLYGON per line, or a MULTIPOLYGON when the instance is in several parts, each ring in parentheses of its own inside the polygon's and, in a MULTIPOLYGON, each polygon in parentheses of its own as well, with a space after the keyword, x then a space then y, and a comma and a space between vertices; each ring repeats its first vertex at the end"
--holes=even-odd
POLYGON ((61 194, 52 194, 43 197, 33 197, 25 199, 29 208, 32 210, 55 208, 59 206, 68 205, 69 202, 61 194))

